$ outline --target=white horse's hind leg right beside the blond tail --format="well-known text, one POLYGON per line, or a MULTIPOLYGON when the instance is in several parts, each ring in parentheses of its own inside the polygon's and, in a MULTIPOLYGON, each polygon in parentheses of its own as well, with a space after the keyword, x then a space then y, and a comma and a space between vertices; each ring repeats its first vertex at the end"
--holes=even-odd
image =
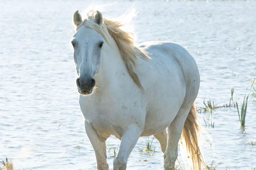
POLYGON ((174 170, 178 157, 178 142, 190 108, 180 108, 177 116, 168 127, 167 148, 164 153, 164 170, 174 170))

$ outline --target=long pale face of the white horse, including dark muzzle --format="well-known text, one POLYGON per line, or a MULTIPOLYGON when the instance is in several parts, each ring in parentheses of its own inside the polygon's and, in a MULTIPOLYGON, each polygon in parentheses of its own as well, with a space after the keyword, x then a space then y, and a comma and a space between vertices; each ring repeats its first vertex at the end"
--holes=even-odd
MULTIPOLYGON (((77 26, 75 16, 74 24, 77 26)), ((78 92, 85 95, 90 94, 95 86, 94 76, 101 63, 104 39, 98 32, 82 25, 73 36, 71 43, 74 47, 74 61, 78 74, 76 80, 78 92)))

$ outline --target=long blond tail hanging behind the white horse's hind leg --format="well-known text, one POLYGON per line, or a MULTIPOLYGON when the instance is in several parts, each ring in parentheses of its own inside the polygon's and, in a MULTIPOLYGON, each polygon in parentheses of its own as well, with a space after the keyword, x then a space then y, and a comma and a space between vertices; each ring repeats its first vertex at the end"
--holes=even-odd
POLYGON ((206 169, 203 155, 199 149, 201 140, 201 125, 197 118, 195 104, 192 105, 180 138, 180 147, 183 156, 187 157, 190 169, 201 170, 202 166, 206 169))

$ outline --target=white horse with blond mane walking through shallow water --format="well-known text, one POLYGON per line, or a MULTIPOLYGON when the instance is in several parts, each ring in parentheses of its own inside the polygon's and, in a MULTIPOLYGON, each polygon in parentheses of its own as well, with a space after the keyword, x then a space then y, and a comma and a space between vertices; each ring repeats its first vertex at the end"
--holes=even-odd
POLYGON ((103 18, 99 11, 89 11, 85 20, 76 11, 73 20, 79 104, 97 168, 109 169, 105 141, 110 135, 121 140, 114 170, 126 169, 140 136, 154 135, 165 170, 174 169, 179 139, 190 168, 201 169, 205 163, 193 105, 200 76, 193 57, 171 42, 136 47, 133 34, 121 30, 122 22, 103 18))

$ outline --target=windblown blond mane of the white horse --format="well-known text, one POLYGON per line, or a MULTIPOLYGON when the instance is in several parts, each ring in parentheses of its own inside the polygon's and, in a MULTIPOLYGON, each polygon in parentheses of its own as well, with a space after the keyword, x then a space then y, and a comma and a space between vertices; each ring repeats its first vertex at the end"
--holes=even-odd
POLYGON ((87 13, 87 19, 85 19, 76 28, 76 30, 78 30, 82 25, 85 25, 86 27, 89 27, 101 34, 109 45, 111 45, 111 38, 113 38, 121 52, 122 59, 127 67, 131 78, 139 88, 144 90, 141 85, 140 79, 136 73, 137 59, 138 57, 142 57, 143 59, 148 60, 150 59, 150 57, 135 46, 135 36, 133 33, 125 32, 121 29, 121 27, 124 26, 126 23, 103 18, 103 24, 102 26, 99 26, 94 21, 95 14, 96 10, 90 10, 87 13))

